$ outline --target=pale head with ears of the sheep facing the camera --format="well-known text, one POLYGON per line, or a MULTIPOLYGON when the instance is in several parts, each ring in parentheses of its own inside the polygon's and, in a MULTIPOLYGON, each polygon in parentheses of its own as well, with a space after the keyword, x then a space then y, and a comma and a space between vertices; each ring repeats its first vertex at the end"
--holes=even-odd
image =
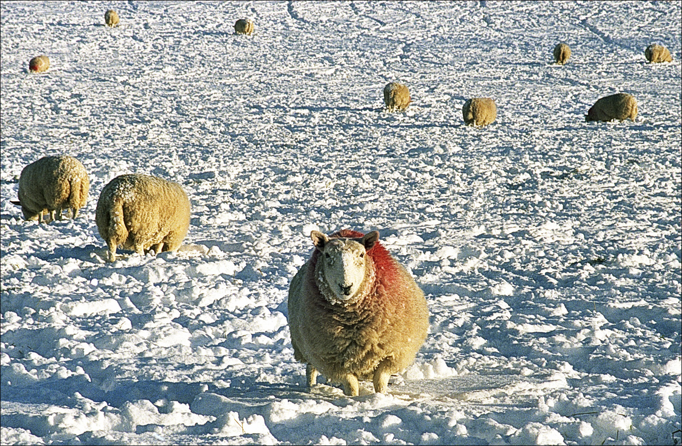
POLYGON ((366 253, 379 240, 379 232, 370 232, 359 241, 329 238, 318 231, 312 231, 310 238, 320 251, 321 273, 333 296, 340 302, 355 298, 365 278, 366 253))

